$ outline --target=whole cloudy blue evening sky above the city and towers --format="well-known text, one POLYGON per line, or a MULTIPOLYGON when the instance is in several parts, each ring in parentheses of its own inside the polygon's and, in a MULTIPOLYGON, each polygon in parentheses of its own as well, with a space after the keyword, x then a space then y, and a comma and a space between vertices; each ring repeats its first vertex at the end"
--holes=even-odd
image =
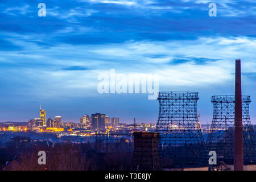
POLYGON ((98 76, 115 69, 158 75, 160 92, 199 92, 201 123, 210 123, 210 98, 234 94, 241 59, 256 123, 255 0, 1 0, 0 19, 0 122, 38 118, 39 104, 64 122, 93 113, 157 122, 147 93, 98 92, 98 76))

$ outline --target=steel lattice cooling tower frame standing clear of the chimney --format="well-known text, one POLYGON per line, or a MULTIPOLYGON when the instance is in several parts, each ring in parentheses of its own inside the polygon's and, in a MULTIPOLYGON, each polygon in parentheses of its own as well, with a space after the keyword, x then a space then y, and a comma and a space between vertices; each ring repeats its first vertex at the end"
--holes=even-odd
POLYGON ((159 154, 170 166, 205 166, 205 142, 197 118, 197 92, 159 92, 159 154))

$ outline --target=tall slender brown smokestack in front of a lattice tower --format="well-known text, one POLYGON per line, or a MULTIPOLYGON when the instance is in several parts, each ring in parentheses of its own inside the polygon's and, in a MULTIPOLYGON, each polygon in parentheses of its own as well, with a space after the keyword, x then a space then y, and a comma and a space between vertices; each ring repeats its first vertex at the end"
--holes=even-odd
POLYGON ((236 60, 236 99, 234 122, 234 171, 243 171, 243 124, 241 60, 236 60))

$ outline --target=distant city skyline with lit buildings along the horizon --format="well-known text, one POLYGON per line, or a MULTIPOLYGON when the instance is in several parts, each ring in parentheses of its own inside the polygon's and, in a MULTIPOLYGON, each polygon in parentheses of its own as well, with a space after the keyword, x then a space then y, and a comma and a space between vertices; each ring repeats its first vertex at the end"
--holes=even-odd
MULTIPOLYGON (((210 125, 195 124, 196 130, 201 130, 203 134, 208 134, 210 125)), ((170 124, 172 130, 184 130, 185 128, 177 123, 170 124)), ((110 117, 106 114, 84 114, 79 122, 62 122, 60 115, 54 119, 46 118, 46 110, 39 110, 39 118, 29 119, 28 122, 2 122, 1 131, 12 132, 34 132, 34 133, 55 133, 61 136, 89 137, 93 134, 132 134, 134 131, 155 131, 156 123, 121 123, 119 118, 110 117)), ((225 130, 218 128, 218 130, 225 130)))

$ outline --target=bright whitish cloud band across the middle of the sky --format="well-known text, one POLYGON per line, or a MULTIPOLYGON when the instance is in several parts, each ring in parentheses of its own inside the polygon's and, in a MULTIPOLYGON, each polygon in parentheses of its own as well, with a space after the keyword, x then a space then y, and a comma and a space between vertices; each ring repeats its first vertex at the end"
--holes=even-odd
POLYGON ((254 72, 256 69, 253 56, 256 41, 245 37, 126 42, 109 45, 62 44, 50 48, 39 47, 22 40, 15 40, 15 43, 19 46, 26 44, 26 47, 22 52, 2 53, 1 61, 10 63, 11 60, 12 64, 18 65, 6 70, 6 74, 18 71, 23 80, 30 80, 27 83, 30 89, 26 94, 27 92, 44 94, 46 97, 67 93, 72 96, 96 94, 98 74, 108 72, 110 68, 125 74, 158 73, 159 86, 205 86, 205 88, 208 85, 232 82, 235 59, 242 60, 243 72, 254 72), (24 52, 29 54, 23 54, 24 52), (192 57, 192 60, 193 57, 205 57, 217 61, 209 61, 205 64, 195 61, 172 64, 171 61, 175 57, 192 57), (90 70, 63 70, 73 66, 90 68, 90 70), (38 84, 43 84, 44 89, 38 84))

